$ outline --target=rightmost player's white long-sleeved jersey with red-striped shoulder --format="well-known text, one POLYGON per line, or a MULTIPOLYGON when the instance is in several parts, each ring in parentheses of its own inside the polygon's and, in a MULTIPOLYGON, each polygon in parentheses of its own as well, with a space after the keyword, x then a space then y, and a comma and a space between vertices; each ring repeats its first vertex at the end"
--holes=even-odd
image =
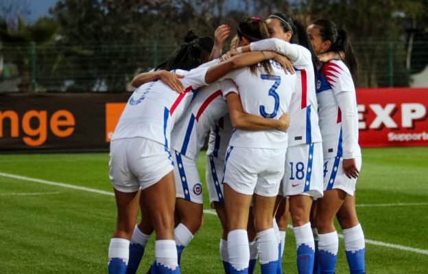
POLYGON ((357 98, 348 67, 342 61, 326 62, 318 75, 318 116, 324 159, 360 156, 357 98))

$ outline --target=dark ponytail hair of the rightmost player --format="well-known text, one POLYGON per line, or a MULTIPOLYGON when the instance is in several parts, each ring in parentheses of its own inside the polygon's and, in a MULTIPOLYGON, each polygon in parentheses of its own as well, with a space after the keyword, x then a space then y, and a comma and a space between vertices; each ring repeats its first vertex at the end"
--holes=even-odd
POLYGON ((343 29, 337 29, 336 24, 326 19, 320 19, 313 21, 313 25, 316 25, 320 29, 320 36, 323 41, 329 40, 331 42, 328 51, 344 53, 343 61, 348 66, 350 73, 353 77, 357 77, 358 74, 358 62, 357 56, 355 55, 354 49, 350 44, 348 34, 343 29))

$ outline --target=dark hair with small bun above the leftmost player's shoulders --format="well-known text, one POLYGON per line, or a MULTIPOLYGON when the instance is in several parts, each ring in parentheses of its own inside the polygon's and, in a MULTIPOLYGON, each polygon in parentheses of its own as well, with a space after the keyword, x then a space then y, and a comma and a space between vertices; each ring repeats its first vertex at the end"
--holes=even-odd
POLYGON ((209 61, 209 55, 214 45, 211 37, 198 37, 195 31, 191 29, 187 31, 183 40, 185 44, 180 45, 167 60, 158 64, 154 69, 155 71, 161 69, 165 69, 166 71, 174 69, 190 71, 200 66, 200 64, 209 61))

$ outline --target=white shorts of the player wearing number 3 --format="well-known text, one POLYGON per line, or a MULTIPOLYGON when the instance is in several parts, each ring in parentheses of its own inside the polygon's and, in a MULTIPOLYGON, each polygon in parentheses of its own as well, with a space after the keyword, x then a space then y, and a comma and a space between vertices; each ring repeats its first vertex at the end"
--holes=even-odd
POLYGON ((224 163, 224 184, 243 195, 278 195, 286 151, 229 146, 224 163))

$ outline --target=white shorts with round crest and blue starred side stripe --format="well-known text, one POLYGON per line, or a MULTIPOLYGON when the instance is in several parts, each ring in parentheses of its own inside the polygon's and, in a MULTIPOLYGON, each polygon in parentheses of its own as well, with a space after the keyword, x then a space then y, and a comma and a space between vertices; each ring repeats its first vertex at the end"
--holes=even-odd
POLYGON ((174 180, 176 182, 176 197, 203 203, 202 184, 195 161, 171 149, 174 158, 174 180))

